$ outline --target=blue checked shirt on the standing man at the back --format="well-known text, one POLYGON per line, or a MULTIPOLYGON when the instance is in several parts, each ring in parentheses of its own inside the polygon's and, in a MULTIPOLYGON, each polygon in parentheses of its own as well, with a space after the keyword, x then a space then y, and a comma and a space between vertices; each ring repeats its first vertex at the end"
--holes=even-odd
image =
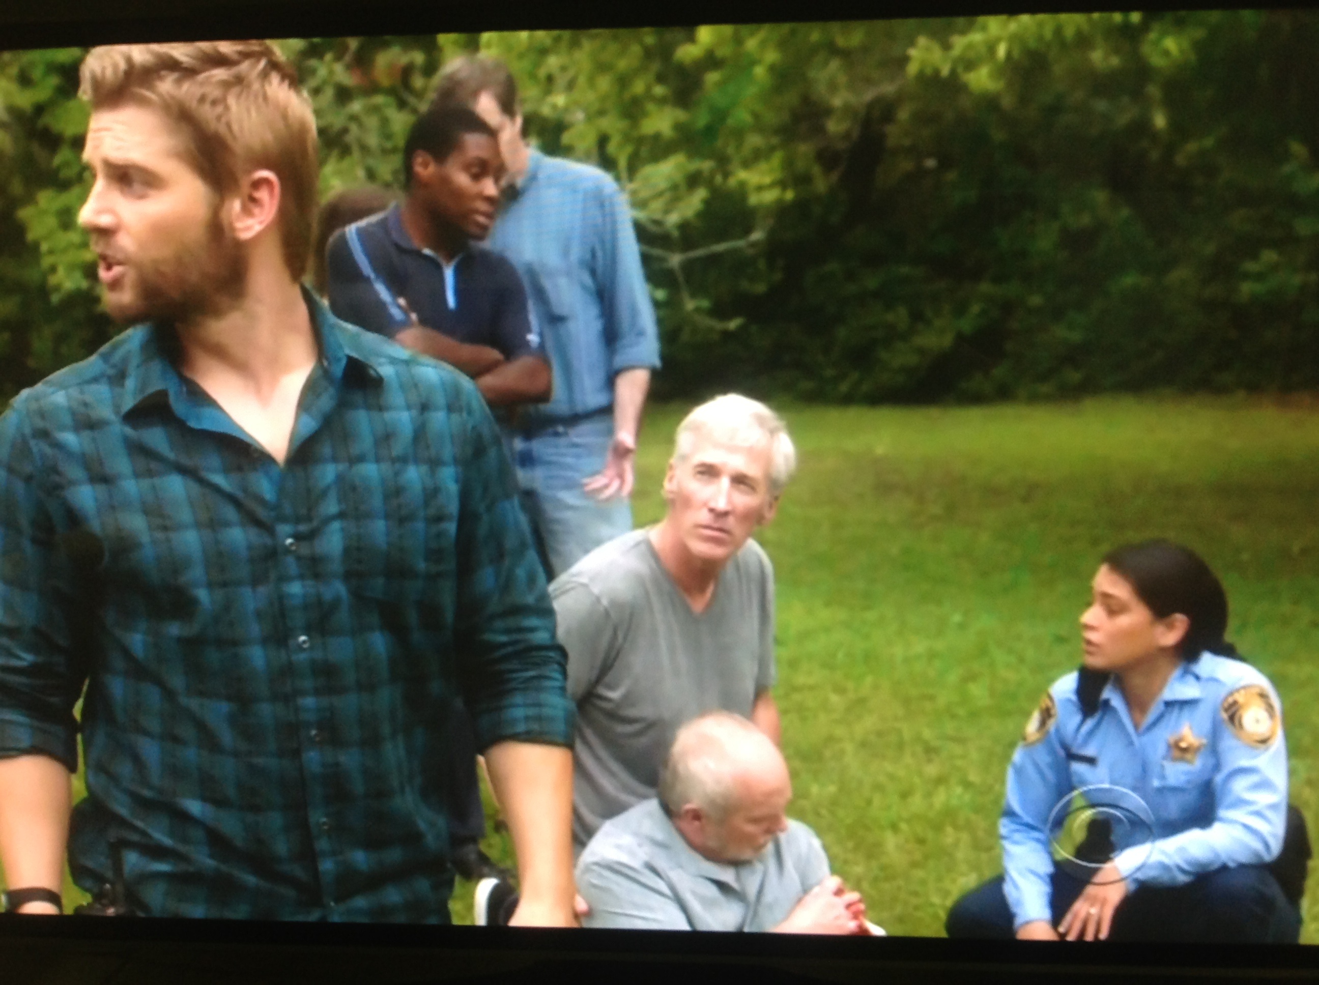
POLYGON ((532 150, 487 245, 521 274, 554 372, 550 401, 525 421, 604 410, 619 372, 660 367, 632 211, 604 171, 532 150))

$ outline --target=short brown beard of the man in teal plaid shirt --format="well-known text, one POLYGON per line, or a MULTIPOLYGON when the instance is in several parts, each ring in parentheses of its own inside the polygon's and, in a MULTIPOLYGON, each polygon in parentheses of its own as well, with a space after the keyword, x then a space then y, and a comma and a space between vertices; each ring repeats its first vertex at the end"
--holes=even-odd
POLYGON ((125 272, 132 280, 127 297, 103 289, 106 310, 120 324, 178 326, 212 318, 243 297, 247 272, 247 253, 228 235, 216 207, 204 232, 178 244, 169 256, 133 262, 125 272))

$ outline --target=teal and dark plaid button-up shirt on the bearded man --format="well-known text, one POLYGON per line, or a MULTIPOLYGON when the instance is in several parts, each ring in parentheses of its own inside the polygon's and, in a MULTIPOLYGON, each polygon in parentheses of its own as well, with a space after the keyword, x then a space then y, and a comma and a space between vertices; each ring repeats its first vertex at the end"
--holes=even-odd
POLYGON ((309 299, 288 460, 132 328, 0 417, 0 756, 78 765, 79 886, 146 915, 443 922, 447 709, 571 745, 499 431, 309 299))

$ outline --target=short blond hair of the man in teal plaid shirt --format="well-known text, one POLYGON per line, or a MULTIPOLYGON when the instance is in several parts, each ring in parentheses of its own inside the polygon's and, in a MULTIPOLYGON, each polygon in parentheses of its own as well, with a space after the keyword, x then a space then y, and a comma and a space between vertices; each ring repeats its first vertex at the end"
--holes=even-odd
POLYGON ((83 59, 78 95, 94 112, 133 103, 162 112, 216 195, 253 170, 274 171, 284 261, 301 280, 317 212, 317 123, 297 73, 269 42, 103 45, 83 59))

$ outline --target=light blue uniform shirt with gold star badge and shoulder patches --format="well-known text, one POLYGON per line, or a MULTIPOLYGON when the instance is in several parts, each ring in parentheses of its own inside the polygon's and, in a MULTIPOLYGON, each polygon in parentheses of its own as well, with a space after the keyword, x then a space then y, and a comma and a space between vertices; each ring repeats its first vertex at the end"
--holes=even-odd
MULTIPOLYGON (((1177 669, 1140 731, 1116 679, 1104 687, 1099 709, 1083 719, 1076 676, 1049 688, 1008 767, 998 835, 1014 927, 1051 918, 1049 818, 1083 787, 1122 787, 1148 806, 1153 831, 1141 824, 1113 829, 1113 861, 1128 890, 1179 886, 1278 856, 1287 746, 1282 705, 1264 674, 1203 653, 1177 669)), ((1103 792, 1089 799, 1112 803, 1103 792)))

